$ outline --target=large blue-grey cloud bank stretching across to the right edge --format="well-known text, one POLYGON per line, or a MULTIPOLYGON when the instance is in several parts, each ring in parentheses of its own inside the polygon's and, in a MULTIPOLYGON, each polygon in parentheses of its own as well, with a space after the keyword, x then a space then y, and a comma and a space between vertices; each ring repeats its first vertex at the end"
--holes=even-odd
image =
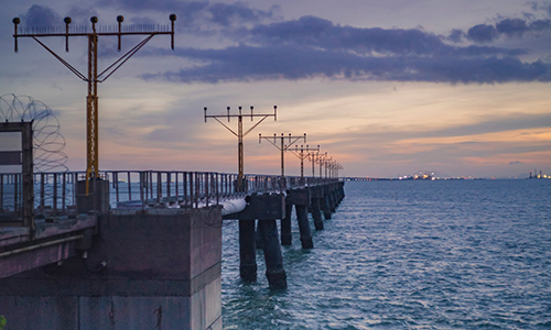
MULTIPOLYGON (((499 33, 516 35, 526 29, 528 25, 520 21, 501 20, 499 29, 480 24, 466 34, 455 30, 452 38, 490 41, 499 33)), ((307 15, 228 30, 226 36, 239 44, 225 48, 144 52, 172 54, 195 65, 143 77, 213 84, 311 78, 451 84, 551 80, 550 64, 519 58, 527 50, 457 46, 447 44, 446 37, 419 29, 343 26, 307 15)))

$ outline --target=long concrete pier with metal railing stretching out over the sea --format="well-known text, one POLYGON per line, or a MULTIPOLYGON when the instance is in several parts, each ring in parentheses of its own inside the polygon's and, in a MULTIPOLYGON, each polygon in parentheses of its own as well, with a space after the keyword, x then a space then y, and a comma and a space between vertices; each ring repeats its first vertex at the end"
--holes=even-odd
POLYGON ((0 174, 0 310, 15 329, 222 329, 222 227, 239 221, 240 276, 257 279, 256 229, 271 289, 294 209, 303 249, 344 198, 336 178, 198 172, 0 174), (280 224, 281 237, 278 235, 280 224))

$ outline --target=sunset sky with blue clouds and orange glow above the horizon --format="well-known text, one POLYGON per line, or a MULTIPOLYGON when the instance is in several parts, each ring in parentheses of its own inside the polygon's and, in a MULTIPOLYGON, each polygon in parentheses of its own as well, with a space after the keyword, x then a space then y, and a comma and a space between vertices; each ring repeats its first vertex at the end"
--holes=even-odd
MULTIPOLYGON (((280 173, 279 151, 259 133, 306 133, 301 144, 320 145, 342 176, 551 173, 551 1, 2 2, 0 96, 52 109, 72 170, 86 167, 86 82, 31 38, 15 53, 15 16, 25 29, 177 15, 174 51, 156 35, 99 85, 100 169, 236 173, 237 138, 205 123, 203 108, 277 106, 277 121, 245 138, 246 173, 280 173)), ((142 38, 123 36, 119 53, 116 37, 100 37, 99 70, 142 38)), ((41 42, 86 74, 85 37, 71 37, 68 53, 63 37, 41 42)), ((285 174, 300 174, 291 153, 285 174)))

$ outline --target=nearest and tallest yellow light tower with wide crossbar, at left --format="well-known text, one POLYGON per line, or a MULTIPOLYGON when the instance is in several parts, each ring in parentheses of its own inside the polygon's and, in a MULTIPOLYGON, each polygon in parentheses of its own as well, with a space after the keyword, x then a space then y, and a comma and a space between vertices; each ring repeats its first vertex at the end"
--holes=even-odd
POLYGON ((109 78, 122 64, 125 64, 132 55, 134 55, 143 45, 145 45, 153 36, 158 34, 169 34, 171 35, 171 47, 174 51, 174 21, 176 21, 175 14, 170 14, 169 19, 171 21, 170 25, 156 25, 153 24, 140 24, 140 25, 127 25, 122 26, 125 18, 121 15, 117 16, 118 26, 96 26, 98 22, 97 16, 91 16, 91 31, 86 26, 75 26, 72 28, 71 18, 65 18, 65 28, 58 26, 46 26, 46 28, 24 28, 23 33, 19 33, 18 25, 21 23, 19 18, 13 19, 13 24, 15 25, 15 32, 13 37, 15 38, 15 53, 19 52, 18 38, 19 37, 31 37, 36 41, 41 46, 43 46, 50 54, 57 58, 63 65, 65 65, 73 74, 75 74, 82 80, 88 82, 88 96, 86 97, 86 141, 87 141, 87 153, 86 153, 86 194, 88 194, 88 180, 90 178, 98 178, 98 94, 97 84, 104 82, 109 78), (117 36, 118 37, 118 51, 120 52, 121 36, 122 35, 147 35, 147 37, 138 43, 133 48, 128 51, 119 59, 112 63, 104 72, 98 74, 98 37, 99 36, 117 36), (68 52, 68 38, 69 36, 85 36, 88 38, 88 75, 85 76, 78 72, 75 67, 68 64, 54 51, 48 48, 39 38, 46 36, 62 36, 65 37, 65 52, 68 52))

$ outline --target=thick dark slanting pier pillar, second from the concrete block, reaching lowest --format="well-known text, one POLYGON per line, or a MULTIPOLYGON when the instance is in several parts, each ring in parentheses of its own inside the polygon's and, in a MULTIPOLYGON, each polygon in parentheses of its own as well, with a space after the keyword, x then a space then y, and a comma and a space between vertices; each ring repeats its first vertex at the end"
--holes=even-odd
POLYGON ((287 274, 278 239, 278 224, 276 220, 259 220, 258 223, 264 242, 266 277, 270 289, 285 289, 287 274))

